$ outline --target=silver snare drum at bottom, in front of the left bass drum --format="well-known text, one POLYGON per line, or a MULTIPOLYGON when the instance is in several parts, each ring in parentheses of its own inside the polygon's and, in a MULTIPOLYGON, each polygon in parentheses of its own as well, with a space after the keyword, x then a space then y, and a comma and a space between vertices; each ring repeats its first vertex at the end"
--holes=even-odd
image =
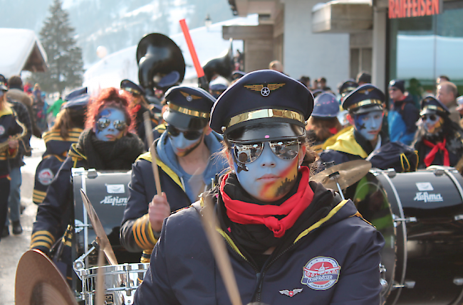
POLYGON ((82 299, 85 305, 95 305, 95 287, 98 270, 105 279, 105 305, 132 305, 133 294, 142 283, 150 264, 118 264, 93 267, 80 271, 82 299))

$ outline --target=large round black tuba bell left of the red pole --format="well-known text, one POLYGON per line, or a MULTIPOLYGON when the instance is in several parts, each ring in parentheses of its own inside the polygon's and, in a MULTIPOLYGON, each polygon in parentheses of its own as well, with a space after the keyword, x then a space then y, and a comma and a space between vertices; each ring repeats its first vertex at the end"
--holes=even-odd
POLYGON ((163 91, 180 84, 185 75, 182 50, 169 37, 151 33, 142 38, 137 47, 138 80, 147 96, 154 88, 163 91))

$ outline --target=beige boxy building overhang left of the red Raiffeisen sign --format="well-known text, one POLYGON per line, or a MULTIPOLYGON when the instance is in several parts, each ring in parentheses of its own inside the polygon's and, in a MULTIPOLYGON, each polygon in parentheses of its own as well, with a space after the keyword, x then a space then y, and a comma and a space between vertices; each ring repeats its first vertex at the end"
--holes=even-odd
POLYGON ((352 33, 373 28, 370 0, 335 0, 312 9, 313 33, 352 33))

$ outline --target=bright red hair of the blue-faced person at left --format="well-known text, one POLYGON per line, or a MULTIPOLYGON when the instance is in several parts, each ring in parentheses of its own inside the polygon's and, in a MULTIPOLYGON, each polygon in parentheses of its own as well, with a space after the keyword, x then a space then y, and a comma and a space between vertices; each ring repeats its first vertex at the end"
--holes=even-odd
POLYGON ((130 107, 130 95, 124 90, 118 90, 115 87, 103 89, 100 94, 91 100, 88 105, 87 119, 85 120, 86 128, 93 128, 98 113, 101 110, 113 107, 120 109, 125 114, 125 122, 130 132, 135 130, 135 116, 133 108, 130 107))

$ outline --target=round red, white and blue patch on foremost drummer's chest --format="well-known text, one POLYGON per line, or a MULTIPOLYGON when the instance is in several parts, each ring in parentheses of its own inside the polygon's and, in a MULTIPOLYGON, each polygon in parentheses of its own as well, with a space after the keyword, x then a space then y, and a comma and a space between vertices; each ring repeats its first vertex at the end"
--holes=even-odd
POLYGON ((301 284, 326 290, 338 282, 340 265, 331 257, 314 257, 303 267, 301 284))

